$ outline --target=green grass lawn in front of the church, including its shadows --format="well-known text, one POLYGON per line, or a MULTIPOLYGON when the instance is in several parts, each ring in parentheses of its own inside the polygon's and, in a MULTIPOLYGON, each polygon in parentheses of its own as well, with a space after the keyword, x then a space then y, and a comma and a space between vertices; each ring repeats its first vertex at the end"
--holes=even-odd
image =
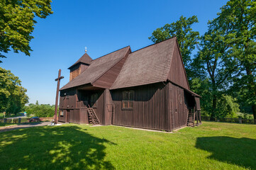
POLYGON ((174 133, 62 125, 0 133, 0 169, 256 169, 256 125, 174 133))

